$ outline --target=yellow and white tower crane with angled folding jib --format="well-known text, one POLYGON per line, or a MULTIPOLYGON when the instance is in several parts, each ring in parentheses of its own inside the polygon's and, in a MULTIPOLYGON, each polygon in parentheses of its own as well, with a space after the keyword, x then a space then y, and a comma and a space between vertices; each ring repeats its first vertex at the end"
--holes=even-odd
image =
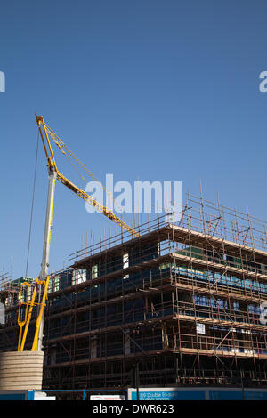
MULTIPOLYGON (((36 329, 34 340, 31 350, 42 350, 43 342, 43 333, 44 333, 44 307, 45 301, 47 300, 47 291, 49 285, 49 276, 48 276, 48 267, 49 267, 49 254, 50 254, 50 241, 51 241, 51 231, 52 231, 52 219, 53 219, 53 200, 54 200, 54 188, 55 181, 61 181, 66 187, 73 191, 77 196, 81 197, 93 205, 100 213, 105 215, 111 221, 114 221, 118 226, 125 231, 129 232, 134 237, 139 237, 139 233, 127 225, 124 221, 118 218, 115 213, 110 211, 106 206, 101 205, 99 202, 93 199, 90 195, 85 193, 83 189, 78 188, 72 181, 69 181, 63 174, 61 174, 57 168, 55 158, 53 156, 53 149, 51 145, 52 140, 58 147, 61 149, 61 152, 65 155, 69 155, 74 158, 76 163, 80 165, 86 173, 91 177, 93 174, 85 167, 85 165, 75 156, 75 154, 67 147, 67 145, 53 132, 53 130, 44 122, 44 117, 36 115, 36 122, 38 130, 44 145, 45 157, 48 163, 48 196, 47 196, 47 207, 46 207, 46 218, 45 218, 45 227, 44 227, 44 246, 43 246, 43 259, 41 265, 40 276, 36 279, 36 283, 32 292, 32 295, 28 297, 30 284, 24 282, 21 285, 20 295, 26 294, 26 301, 20 301, 19 303, 19 313, 18 313, 18 325, 20 327, 19 334, 19 343, 18 351, 23 351, 25 347, 25 342, 28 334, 28 326, 32 316, 33 309, 38 308, 38 313, 36 316, 36 329), (36 296, 38 295, 38 300, 36 301, 36 296), (24 310, 22 312, 22 307, 24 310)), ((94 178, 94 177, 93 177, 94 178)), ((94 178, 94 180, 96 180, 94 178)))

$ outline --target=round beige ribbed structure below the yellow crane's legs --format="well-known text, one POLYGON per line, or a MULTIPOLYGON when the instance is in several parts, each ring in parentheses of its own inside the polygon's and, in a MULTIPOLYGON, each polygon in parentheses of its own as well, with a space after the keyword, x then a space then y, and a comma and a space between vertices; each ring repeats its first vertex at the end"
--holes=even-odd
POLYGON ((43 351, 0 353, 0 390, 42 390, 43 351))

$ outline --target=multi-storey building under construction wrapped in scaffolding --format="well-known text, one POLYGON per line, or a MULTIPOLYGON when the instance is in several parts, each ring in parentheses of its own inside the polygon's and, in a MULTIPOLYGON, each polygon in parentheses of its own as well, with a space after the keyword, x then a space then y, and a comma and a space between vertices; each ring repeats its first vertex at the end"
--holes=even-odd
MULTIPOLYGON (((179 222, 158 217, 140 237, 122 231, 73 253, 50 280, 44 390, 267 386, 266 227, 188 195, 179 222)), ((0 294, 0 350, 16 350, 23 294, 0 294)))

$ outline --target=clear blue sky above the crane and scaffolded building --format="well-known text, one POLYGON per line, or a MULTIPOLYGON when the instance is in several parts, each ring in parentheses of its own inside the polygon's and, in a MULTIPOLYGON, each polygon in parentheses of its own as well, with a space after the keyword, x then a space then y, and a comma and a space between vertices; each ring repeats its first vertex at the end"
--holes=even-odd
MULTIPOLYGON (((264 0, 77 0, 1 4, 0 268, 25 272, 42 114, 104 181, 182 181, 265 219, 264 0), (2 264, 2 265, 1 265, 2 264)), ((39 150, 28 274, 40 269, 47 173, 39 150)), ((61 167, 64 173, 64 166, 61 167)), ((93 229, 113 229, 61 184, 51 269, 93 229)))

